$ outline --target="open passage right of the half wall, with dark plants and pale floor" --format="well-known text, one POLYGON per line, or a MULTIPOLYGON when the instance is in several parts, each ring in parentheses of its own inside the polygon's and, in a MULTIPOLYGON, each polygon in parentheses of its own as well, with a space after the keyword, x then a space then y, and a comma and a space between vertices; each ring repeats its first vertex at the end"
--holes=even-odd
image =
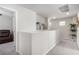
POLYGON ((77 45, 77 16, 51 20, 51 30, 58 30, 59 43, 48 55, 74 55, 79 54, 77 45), (72 26, 71 26, 72 25, 72 26), (74 36, 72 36, 74 35, 74 36), (53 52, 52 52, 53 51, 53 52))

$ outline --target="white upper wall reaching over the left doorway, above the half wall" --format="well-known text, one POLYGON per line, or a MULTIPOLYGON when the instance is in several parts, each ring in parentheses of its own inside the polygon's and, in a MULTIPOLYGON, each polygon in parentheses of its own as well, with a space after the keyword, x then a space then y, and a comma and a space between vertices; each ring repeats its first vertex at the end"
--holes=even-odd
POLYGON ((3 8, 16 12, 17 31, 29 32, 36 30, 36 13, 17 5, 0 5, 3 8))

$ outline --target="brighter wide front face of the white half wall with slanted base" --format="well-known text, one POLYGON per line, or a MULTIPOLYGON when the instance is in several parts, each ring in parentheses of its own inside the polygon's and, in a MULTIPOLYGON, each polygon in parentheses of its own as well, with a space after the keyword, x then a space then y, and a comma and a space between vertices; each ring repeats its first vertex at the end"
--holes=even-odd
POLYGON ((37 31, 32 33, 32 55, 45 55, 57 44, 57 31, 37 31))

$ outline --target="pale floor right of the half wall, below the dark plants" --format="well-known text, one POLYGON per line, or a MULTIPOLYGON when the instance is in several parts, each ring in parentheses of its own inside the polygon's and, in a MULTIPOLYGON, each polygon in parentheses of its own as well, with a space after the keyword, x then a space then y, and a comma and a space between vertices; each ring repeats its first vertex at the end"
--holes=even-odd
POLYGON ((79 55, 76 42, 63 40, 57 44, 47 55, 79 55))

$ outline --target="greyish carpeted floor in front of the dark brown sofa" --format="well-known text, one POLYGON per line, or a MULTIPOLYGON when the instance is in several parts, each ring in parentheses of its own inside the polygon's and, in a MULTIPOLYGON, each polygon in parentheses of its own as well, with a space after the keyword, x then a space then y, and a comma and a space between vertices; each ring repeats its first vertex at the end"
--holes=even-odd
POLYGON ((14 42, 0 44, 0 55, 17 55, 14 42))

